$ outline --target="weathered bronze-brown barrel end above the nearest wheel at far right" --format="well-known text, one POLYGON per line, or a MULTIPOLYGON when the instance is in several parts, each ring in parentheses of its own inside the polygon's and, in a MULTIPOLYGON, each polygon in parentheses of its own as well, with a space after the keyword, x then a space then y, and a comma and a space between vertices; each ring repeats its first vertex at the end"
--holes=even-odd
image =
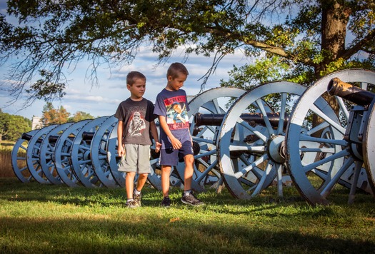
POLYGON ((345 83, 339 78, 332 78, 329 81, 327 92, 331 96, 339 96, 360 106, 369 105, 375 97, 375 93, 363 90, 350 83, 345 83))

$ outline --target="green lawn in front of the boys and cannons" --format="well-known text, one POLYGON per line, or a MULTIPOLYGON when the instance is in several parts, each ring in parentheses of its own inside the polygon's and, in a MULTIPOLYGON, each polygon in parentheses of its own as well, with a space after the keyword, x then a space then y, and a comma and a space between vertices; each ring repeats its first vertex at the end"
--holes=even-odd
POLYGON ((0 253, 373 253, 375 201, 348 190, 312 207, 294 188, 253 200, 224 190, 191 207, 171 189, 172 206, 146 186, 142 207, 124 207, 120 188, 69 188, 0 178, 0 253))

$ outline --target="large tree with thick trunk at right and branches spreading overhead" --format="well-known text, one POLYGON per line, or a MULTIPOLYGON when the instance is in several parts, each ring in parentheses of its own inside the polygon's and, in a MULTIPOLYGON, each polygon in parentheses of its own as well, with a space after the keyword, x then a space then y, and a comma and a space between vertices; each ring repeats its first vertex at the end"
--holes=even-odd
POLYGON ((0 16, 0 63, 22 56, 9 72, 14 98, 38 71, 49 73, 47 83, 66 83, 63 67, 83 58, 92 62, 94 82, 100 64, 129 64, 142 44, 159 62, 179 46, 186 56, 214 56, 203 83, 241 49, 259 61, 235 66, 232 74, 242 78, 236 85, 252 68, 256 83, 276 78, 308 86, 342 68, 374 69, 374 7, 373 0, 9 1, 19 25, 0 16), (274 76, 259 76, 267 63, 274 76))

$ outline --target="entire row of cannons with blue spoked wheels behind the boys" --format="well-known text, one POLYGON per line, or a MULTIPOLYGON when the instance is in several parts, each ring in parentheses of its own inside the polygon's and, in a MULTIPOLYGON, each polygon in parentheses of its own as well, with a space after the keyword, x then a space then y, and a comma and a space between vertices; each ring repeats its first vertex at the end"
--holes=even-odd
MULTIPOLYGON (((328 204, 338 186, 375 193, 375 72, 331 73, 306 88, 275 82, 249 91, 213 88, 189 98, 196 192, 224 186, 249 199, 269 186, 283 196, 290 179, 311 204, 328 204), (350 83, 350 84, 349 84, 350 83), (355 86, 354 86, 355 85, 355 86), (326 93, 331 96, 323 96, 326 93), (336 101, 336 111, 326 99, 336 101), (311 119, 316 119, 312 124, 311 119)), ((89 188, 123 187, 114 116, 64 123, 24 133, 12 151, 22 182, 89 188)), ((158 153, 148 181, 161 189, 158 153)), ((184 162, 171 185, 184 184, 184 162)))

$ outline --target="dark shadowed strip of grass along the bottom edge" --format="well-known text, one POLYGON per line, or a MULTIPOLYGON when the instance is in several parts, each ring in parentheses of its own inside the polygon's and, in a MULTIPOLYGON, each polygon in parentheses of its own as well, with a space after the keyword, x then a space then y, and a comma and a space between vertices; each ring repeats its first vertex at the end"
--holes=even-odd
MULTIPOLYGON (((132 218, 0 218, 3 253, 371 253, 375 244, 288 230, 132 218), (5 238, 4 238, 5 239, 5 238)), ((316 233, 319 234, 319 233, 316 233)), ((354 238, 356 239, 356 238, 354 238)))

